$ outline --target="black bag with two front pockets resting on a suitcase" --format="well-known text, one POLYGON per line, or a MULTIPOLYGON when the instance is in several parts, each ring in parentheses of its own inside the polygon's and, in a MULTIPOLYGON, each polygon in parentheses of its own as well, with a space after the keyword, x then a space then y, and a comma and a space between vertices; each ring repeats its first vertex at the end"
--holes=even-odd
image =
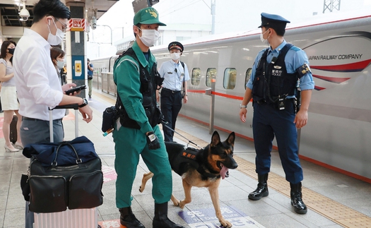
POLYGON ((58 143, 57 149, 55 144, 50 143, 50 150, 55 150, 52 164, 45 165, 35 155, 31 158, 28 173, 30 211, 61 212, 67 207, 71 210, 102 205, 103 174, 98 155, 83 162, 71 142, 58 143), (63 156, 59 153, 68 151, 66 147, 71 148, 73 156, 76 156, 75 164, 58 165, 58 157, 63 156))

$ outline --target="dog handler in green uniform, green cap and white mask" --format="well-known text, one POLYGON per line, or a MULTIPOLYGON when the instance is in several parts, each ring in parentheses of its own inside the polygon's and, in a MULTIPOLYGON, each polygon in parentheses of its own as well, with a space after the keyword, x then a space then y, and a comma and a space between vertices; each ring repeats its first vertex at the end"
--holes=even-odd
POLYGON ((136 176, 139 155, 153 172, 152 196, 155 200, 153 227, 182 227, 167 218, 167 202, 172 193, 172 172, 165 143, 158 124, 160 112, 155 91, 160 88, 152 47, 158 40, 158 20, 155 8, 143 8, 134 16, 136 41, 114 63, 114 83, 117 85, 119 118, 113 138, 114 168, 117 172, 116 205, 120 222, 127 228, 144 227, 131 210, 131 188, 136 176), (156 76, 157 75, 157 76, 156 76))

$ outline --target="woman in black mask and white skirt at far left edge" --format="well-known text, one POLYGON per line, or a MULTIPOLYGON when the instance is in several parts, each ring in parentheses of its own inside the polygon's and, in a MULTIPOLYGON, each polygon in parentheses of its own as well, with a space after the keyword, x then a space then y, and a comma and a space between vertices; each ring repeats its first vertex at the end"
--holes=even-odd
POLYGON ((20 140, 20 124, 22 116, 18 113, 19 103, 17 98, 16 81, 13 73, 13 53, 16 49, 16 42, 6 40, 1 44, 0 49, 0 81, 1 81, 1 106, 4 110, 3 134, 5 139, 4 148, 6 152, 17 152, 23 150, 20 140), (13 115, 18 116, 17 141, 14 145, 10 140, 10 128, 13 115))

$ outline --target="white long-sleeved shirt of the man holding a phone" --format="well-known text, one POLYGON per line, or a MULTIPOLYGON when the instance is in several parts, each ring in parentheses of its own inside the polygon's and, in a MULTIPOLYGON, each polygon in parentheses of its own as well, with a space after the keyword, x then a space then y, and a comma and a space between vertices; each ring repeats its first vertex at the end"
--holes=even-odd
MULTIPOLYGON (((49 109, 62 100, 63 92, 50 58, 50 44, 37 32, 25 29, 13 56, 14 78, 20 103, 19 114, 49 120, 49 109)), ((53 119, 61 119, 65 109, 53 110, 53 119)))

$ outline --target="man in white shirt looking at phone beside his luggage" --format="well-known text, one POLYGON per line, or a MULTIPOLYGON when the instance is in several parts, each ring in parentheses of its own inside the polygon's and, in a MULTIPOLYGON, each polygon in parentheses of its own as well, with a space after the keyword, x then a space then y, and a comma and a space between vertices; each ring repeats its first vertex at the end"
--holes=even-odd
MULTIPOLYGON (((19 113, 23 116, 20 126, 23 145, 49 143, 49 107, 79 104, 83 120, 89 123, 93 119, 93 111, 85 98, 65 94, 64 91, 76 84, 61 86, 50 61, 51 45, 60 44, 64 38, 71 16, 69 8, 60 0, 40 0, 33 8, 33 16, 33 25, 25 29, 13 56, 19 113)), ((61 119, 65 112, 65 109, 53 110, 54 142, 64 138, 61 119)), ((28 211, 28 202, 25 219, 25 227, 33 227, 33 212, 28 211)))

